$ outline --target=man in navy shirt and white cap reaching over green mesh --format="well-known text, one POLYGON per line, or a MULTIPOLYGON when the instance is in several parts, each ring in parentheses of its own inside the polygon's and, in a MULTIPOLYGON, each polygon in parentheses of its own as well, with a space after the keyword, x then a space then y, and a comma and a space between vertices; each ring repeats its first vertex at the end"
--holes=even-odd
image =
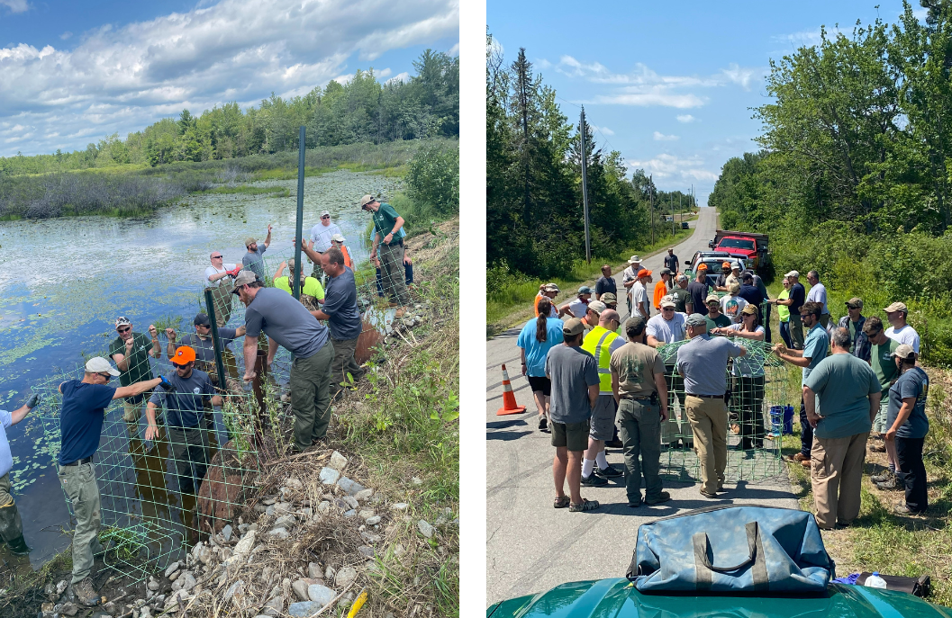
POLYGON ((142 395, 167 380, 164 377, 113 388, 109 379, 119 376, 109 360, 89 358, 82 380, 71 379, 59 385, 63 394, 60 407, 60 453, 57 476, 72 503, 76 528, 72 534, 72 588, 76 598, 87 607, 99 603, 92 587, 92 556, 103 551, 99 544, 99 487, 92 467, 92 455, 99 448, 106 408, 113 399, 142 395))

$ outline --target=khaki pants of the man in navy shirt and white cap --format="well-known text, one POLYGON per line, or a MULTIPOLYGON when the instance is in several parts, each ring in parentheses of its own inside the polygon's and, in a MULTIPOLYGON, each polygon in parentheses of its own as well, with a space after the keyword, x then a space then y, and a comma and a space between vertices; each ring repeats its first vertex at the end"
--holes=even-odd
POLYGON ((72 583, 86 579, 92 571, 92 556, 102 551, 99 544, 101 504, 96 471, 92 463, 58 466, 56 475, 72 504, 76 529, 72 532, 72 583))

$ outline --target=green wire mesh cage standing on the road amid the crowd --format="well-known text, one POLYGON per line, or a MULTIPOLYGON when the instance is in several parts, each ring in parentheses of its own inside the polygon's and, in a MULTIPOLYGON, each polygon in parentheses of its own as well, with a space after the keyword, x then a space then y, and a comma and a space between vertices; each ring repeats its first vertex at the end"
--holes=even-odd
MULTIPOLYGON (((761 480, 781 473, 783 423, 777 408, 788 407, 786 365, 771 354, 771 345, 763 341, 730 338, 743 345, 747 353, 734 358, 726 367, 730 398, 727 404, 726 480, 761 480)), ((678 481, 701 478, 701 462, 694 450, 694 435, 684 410, 684 378, 675 367, 678 349, 687 340, 658 348, 664 360, 668 389, 668 419, 662 423, 663 475, 678 481)))

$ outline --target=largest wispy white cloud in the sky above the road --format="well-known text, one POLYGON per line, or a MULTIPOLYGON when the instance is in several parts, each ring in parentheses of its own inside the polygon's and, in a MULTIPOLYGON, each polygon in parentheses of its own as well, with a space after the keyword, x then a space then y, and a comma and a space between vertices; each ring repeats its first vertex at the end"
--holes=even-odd
POLYGON ((759 68, 743 68, 737 64, 731 64, 709 76, 660 75, 642 63, 636 63, 635 68, 630 72, 616 73, 599 62, 584 63, 568 55, 559 58, 557 65, 552 65, 546 60, 537 62, 537 65, 543 68, 555 68, 567 77, 612 87, 610 92, 597 94, 584 103, 667 106, 682 109, 704 106, 707 102, 707 97, 689 90, 731 84, 749 90, 756 76, 763 74, 763 70, 759 68))

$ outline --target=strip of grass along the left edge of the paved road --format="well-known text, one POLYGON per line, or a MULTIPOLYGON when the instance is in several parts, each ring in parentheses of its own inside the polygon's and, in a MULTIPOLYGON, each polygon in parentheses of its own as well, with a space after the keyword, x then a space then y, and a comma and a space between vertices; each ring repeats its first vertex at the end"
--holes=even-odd
MULTIPOLYGON (((572 272, 563 278, 539 280, 522 275, 521 273, 502 272, 499 269, 486 271, 486 338, 502 333, 507 328, 532 317, 532 301, 539 293, 539 286, 549 281, 559 286, 562 292, 556 297, 558 303, 567 302, 575 298, 578 288, 582 285, 594 285, 595 280, 602 276, 602 264, 610 264, 612 274, 627 267, 627 260, 633 254, 642 259, 664 251, 668 246, 684 241, 694 233, 694 228, 677 230, 672 236, 655 241, 638 248, 625 249, 618 255, 605 258, 593 258, 590 264, 585 260, 576 260, 572 272)), ((687 260, 690 256, 678 256, 687 260)), ((619 302, 624 299, 619 298, 619 302)))

